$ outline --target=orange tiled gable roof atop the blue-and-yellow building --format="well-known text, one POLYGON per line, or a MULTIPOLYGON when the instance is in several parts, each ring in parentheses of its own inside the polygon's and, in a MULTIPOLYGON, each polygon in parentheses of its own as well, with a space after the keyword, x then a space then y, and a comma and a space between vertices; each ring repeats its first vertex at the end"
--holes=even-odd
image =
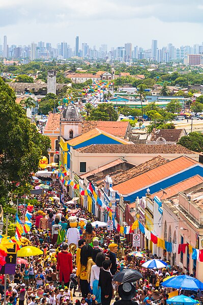
MULTIPOLYGON (((114 135, 111 135, 111 134, 108 133, 108 132, 105 132, 105 131, 103 131, 103 130, 100 130, 99 128, 95 128, 95 129, 92 129, 92 130, 90 130, 90 131, 88 131, 88 132, 86 132, 86 133, 83 133, 83 134, 81 134, 81 135, 78 135, 78 136, 74 137, 72 140, 68 140, 68 143, 70 144, 70 146, 75 146, 75 145, 78 145, 78 144, 80 144, 80 143, 82 143, 82 142, 88 141, 88 140, 90 140, 91 138, 93 138, 93 137, 95 137, 95 136, 97 136, 97 135, 100 135, 100 134, 104 134, 104 135, 106 135, 106 136, 109 136, 109 137, 111 137, 112 139, 114 139, 114 140, 116 140, 116 141, 118 141, 118 142, 120 142, 120 143, 122 143, 122 144, 127 144, 127 145, 129 145, 127 141, 122 140, 121 138, 116 137, 116 136, 114 136, 114 135)), ((94 145, 94 144, 93 144, 93 145, 94 145)), ((102 145, 105 146, 106 144, 102 144, 102 145)), ((118 145, 121 145, 121 144, 118 144, 118 145)), ((122 146, 123 146, 123 145, 122 145, 122 146)), ((88 147, 88 146, 87 146, 87 147, 88 147)), ((78 149, 79 149, 79 148, 78 148, 78 149)))

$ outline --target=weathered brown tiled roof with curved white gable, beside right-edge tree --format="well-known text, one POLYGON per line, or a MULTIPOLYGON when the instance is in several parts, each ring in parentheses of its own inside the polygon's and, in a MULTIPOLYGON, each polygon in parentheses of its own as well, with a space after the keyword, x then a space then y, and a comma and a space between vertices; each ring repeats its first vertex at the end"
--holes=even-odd
POLYGON ((163 137, 167 142, 178 142, 184 129, 153 129, 150 141, 163 137))

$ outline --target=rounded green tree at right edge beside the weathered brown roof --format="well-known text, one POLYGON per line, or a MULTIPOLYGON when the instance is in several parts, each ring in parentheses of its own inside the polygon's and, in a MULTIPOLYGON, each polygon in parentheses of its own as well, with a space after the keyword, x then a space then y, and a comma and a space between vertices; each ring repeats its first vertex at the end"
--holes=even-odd
POLYGON ((182 136, 177 144, 180 144, 192 151, 202 152, 203 135, 197 132, 191 132, 188 135, 182 136))

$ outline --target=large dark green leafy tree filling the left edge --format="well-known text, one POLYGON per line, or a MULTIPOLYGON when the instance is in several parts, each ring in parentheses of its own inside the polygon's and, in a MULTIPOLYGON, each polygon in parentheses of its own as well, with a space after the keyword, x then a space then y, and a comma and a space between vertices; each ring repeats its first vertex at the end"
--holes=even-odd
POLYGON ((0 77, 0 202, 9 204, 15 194, 30 189, 31 173, 38 170, 50 140, 40 134, 15 102, 14 91, 0 77))

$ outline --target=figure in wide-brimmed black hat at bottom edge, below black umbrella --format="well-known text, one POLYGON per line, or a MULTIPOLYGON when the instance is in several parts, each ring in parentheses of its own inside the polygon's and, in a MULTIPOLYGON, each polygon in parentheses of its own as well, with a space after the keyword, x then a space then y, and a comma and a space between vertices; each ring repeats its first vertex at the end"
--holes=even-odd
POLYGON ((119 295, 121 300, 115 301, 114 305, 138 305, 136 301, 132 301, 135 296, 136 289, 131 283, 123 283, 119 286, 119 295))

